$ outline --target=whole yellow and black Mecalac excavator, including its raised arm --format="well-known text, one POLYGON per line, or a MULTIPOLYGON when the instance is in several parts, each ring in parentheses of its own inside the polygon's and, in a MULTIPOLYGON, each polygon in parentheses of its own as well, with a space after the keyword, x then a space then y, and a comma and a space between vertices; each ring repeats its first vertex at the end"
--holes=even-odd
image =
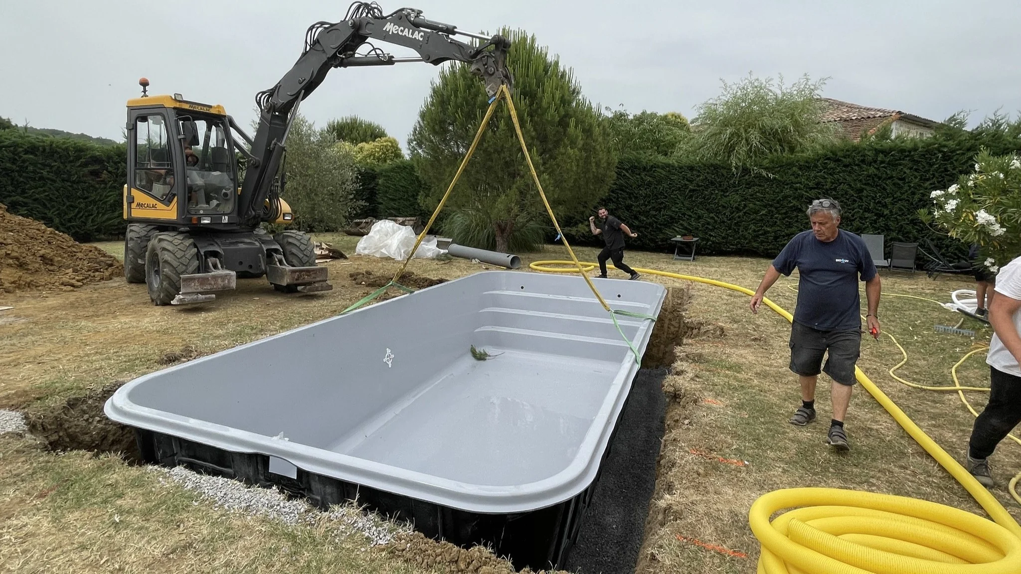
POLYGON ((305 34, 304 49, 276 86, 255 97, 254 137, 221 105, 181 94, 148 94, 128 100, 128 182, 124 188, 125 278, 146 283, 157 305, 212 300, 210 291, 234 289, 238 277, 265 276, 275 289, 332 289, 327 269, 315 265, 311 239, 300 231, 271 235, 263 223, 288 224, 293 213, 281 198, 287 136, 301 101, 334 67, 463 61, 494 96, 510 87, 509 42, 502 36, 466 33, 401 8, 384 14, 375 2, 355 2, 339 22, 320 21, 305 34), (451 38, 480 40, 470 45, 451 38), (414 49, 397 58, 370 40, 414 49), (362 52, 358 52, 362 49, 362 52), (241 174, 243 172, 243 176, 241 174))

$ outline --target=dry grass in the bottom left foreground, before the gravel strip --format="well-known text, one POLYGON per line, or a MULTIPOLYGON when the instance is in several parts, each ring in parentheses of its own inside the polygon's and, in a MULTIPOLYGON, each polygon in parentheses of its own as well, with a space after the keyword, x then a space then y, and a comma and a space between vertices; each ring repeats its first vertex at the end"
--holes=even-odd
MULTIPOLYGON (((215 509, 141 467, 0 436, 0 572, 442 572, 336 523, 215 509)), ((325 515, 323 515, 325 517, 325 515)))

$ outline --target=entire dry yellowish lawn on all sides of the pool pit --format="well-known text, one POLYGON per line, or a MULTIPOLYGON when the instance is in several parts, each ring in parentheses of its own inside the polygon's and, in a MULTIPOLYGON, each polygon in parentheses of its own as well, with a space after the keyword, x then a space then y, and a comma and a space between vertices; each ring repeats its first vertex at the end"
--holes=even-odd
MULTIPOLYGON (((317 239, 331 241, 347 253, 353 253, 357 240, 336 234, 317 239)), ((123 256, 120 242, 97 245, 123 256)), ((595 249, 578 251, 580 257, 594 260, 595 249)), ((527 267, 532 260, 566 256, 557 245, 522 258, 527 267)), ((669 254, 644 252, 628 252, 625 260, 633 267, 711 277, 749 288, 755 288, 769 262, 748 257, 674 261, 669 254)), ((236 291, 194 308, 152 306, 144 285, 120 280, 72 292, 5 297, 2 304, 15 308, 5 312, 0 323, 0 409, 51 409, 89 387, 157 370, 163 354, 184 346, 211 353, 334 316, 373 291, 351 281, 351 272, 386 274, 399 266, 357 256, 325 265, 333 291, 283 294, 264 279, 239 280, 236 291)), ((465 259, 414 260, 409 270, 455 278, 484 267, 465 259)), ((640 571, 753 572, 758 542, 747 527, 747 509, 756 497, 776 488, 873 490, 980 512, 967 492, 860 388, 846 421, 849 453, 837 456, 824 445, 829 418, 825 377, 820 378, 817 396, 820 421, 807 428, 788 425, 798 399, 796 378, 787 370, 789 326, 782 318, 769 310, 752 315, 747 297, 739 293, 654 276, 645 279, 690 287, 686 315, 693 335, 679 350, 680 358, 666 382, 673 398, 640 571), (721 463, 717 457, 748 465, 721 463), (693 539, 734 553, 707 548, 693 539)), ((883 274, 884 291, 943 301, 950 300, 952 290, 972 285, 969 278, 932 281, 921 273, 883 274)), ((794 286, 796 278, 781 279, 769 296, 793 310, 796 293, 788 287, 794 286)), ((916 299, 886 297, 879 316, 883 329, 894 334, 910 355, 898 374, 926 384, 952 384, 954 363, 975 345, 987 344, 990 335, 988 328, 971 321, 962 327, 975 329, 974 338, 935 332, 934 325, 954 326, 961 316, 916 299)), ((959 370, 962 384, 988 384, 983 356, 976 354, 959 370)), ((937 442, 952 455, 963 456, 971 415, 957 394, 911 389, 891 379, 887 370, 901 358, 888 338, 863 339, 862 369, 937 442)), ((968 396, 976 409, 984 404, 982 393, 968 396)), ((4 435, 0 460, 0 547, 4 548, 0 571, 447 568, 368 552, 363 541, 338 536, 325 523, 286 526, 215 509, 114 457, 51 453, 32 439, 4 435)), ((1021 470, 1021 448, 1005 442, 992 458, 992 470, 1006 485, 1021 470)), ((1015 517, 1021 517, 1005 487, 993 491, 1015 517)))

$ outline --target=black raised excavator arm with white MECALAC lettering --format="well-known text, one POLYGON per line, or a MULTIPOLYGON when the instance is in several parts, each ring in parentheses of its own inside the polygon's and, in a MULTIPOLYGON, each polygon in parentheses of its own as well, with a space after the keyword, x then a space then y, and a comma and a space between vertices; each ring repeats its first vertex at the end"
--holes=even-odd
MULTIPOLYGON (((471 63, 472 73, 485 83, 486 92, 494 96, 500 86, 512 85, 506 68, 509 42, 502 36, 485 37, 460 32, 456 27, 426 19, 421 10, 401 8, 384 14, 375 2, 355 2, 346 17, 339 22, 320 21, 305 34, 304 49, 294 66, 276 86, 255 97, 259 108, 259 124, 251 138, 248 169, 241 186, 240 209, 242 224, 257 225, 273 221, 278 205, 275 185, 287 143, 291 124, 297 116, 301 100, 308 97, 334 67, 360 65, 392 65, 404 61, 422 61, 438 65, 445 61, 471 63), (473 46, 451 38, 460 34, 483 41, 473 46), (419 53, 419 57, 395 58, 370 40, 389 42, 419 53), (368 50, 358 53, 358 49, 368 50), (271 201, 265 200, 270 198, 271 201), (269 205, 269 207, 266 207, 269 205)), ((247 139, 247 138, 246 138, 247 139)))

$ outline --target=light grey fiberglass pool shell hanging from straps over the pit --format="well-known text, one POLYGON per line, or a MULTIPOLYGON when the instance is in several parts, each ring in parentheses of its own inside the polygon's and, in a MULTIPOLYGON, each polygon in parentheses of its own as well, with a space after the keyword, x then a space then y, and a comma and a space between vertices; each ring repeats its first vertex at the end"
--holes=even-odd
MULTIPOLYGON (((655 316, 666 290, 595 280, 655 316)), ((652 322, 620 316, 639 352, 652 322)), ((107 417, 481 514, 595 479, 638 365, 577 276, 483 272, 139 377, 107 417), (477 361, 471 345, 491 356, 477 361)), ((275 470, 276 465, 276 470, 275 470)), ((283 470, 280 470, 283 469, 283 470)))

